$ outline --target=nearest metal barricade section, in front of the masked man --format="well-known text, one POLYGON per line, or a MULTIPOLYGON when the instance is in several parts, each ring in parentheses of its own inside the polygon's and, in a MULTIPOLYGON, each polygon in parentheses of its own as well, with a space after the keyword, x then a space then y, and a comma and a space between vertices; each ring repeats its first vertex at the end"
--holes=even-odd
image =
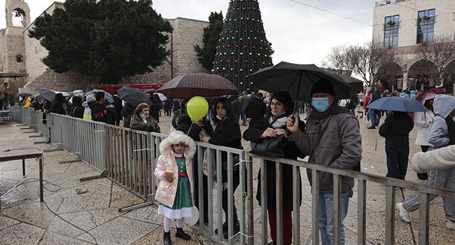
MULTIPOLYGON (((353 170, 339 169, 335 167, 327 167, 323 165, 315 165, 309 162, 289 160, 284 158, 266 158, 260 155, 254 155, 248 153, 250 158, 260 158, 260 180, 262 184, 261 197, 265 198, 267 195, 267 178, 264 175, 266 171, 265 160, 276 162, 276 187, 282 186, 283 176, 279 174, 283 165, 292 165, 293 166, 293 178, 297 178, 297 173, 300 171, 300 167, 311 169, 312 183, 311 188, 311 227, 316 228, 311 232, 311 243, 319 244, 319 174, 318 172, 328 172, 333 174, 333 210, 334 210, 334 233, 333 233, 333 243, 341 243, 341 176, 349 176, 357 179, 358 184, 358 226, 357 226, 357 244, 365 244, 366 242, 366 186, 367 181, 374 183, 384 183, 386 184, 386 244, 395 244, 395 187, 406 188, 410 190, 415 190, 420 192, 421 202, 419 208, 419 244, 428 244, 428 203, 429 195, 441 195, 444 197, 455 198, 455 191, 445 188, 438 188, 435 186, 428 186, 421 183, 414 183, 411 181, 403 181, 400 179, 391 179, 384 176, 377 176, 374 174, 365 174, 361 172, 356 172, 353 170)), ((252 182, 248 179, 248 184, 252 182)), ((295 188, 297 189, 297 188, 295 188)), ((248 188, 249 190, 249 188, 248 188)), ((295 190, 294 190, 295 192, 295 190)), ((276 205, 280 207, 282 204, 282 194, 279 195, 279 191, 276 192, 276 205)), ((294 193, 296 194, 296 193, 294 193)), ((264 200, 264 199, 262 199, 264 200)), ((253 203, 250 201, 250 204, 253 203)), ((253 217, 253 210, 248 206, 248 217, 253 217)), ((276 244, 283 244, 283 212, 276 209, 276 244), (281 232, 280 232, 281 231, 281 232)), ((262 203, 260 217, 262 219, 262 229, 261 229, 261 244, 267 244, 267 204, 262 203)), ((252 227, 253 219, 248 220, 248 228, 252 227)), ((300 234, 300 204, 297 201, 297 195, 293 195, 293 234, 300 234)), ((253 235, 253 229, 248 229, 248 235, 253 235)), ((253 244, 253 237, 248 239, 248 244, 253 244)), ((293 244, 300 244, 300 236, 293 236, 293 244)))

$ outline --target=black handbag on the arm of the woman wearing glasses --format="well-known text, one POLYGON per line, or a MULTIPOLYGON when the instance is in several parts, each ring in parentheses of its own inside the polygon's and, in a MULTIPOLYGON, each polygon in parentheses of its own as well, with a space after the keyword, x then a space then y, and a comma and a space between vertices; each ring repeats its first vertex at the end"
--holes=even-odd
MULTIPOLYGON (((275 123, 275 118, 269 127, 272 127, 275 123)), ((284 153, 286 152, 286 146, 288 145, 288 139, 281 134, 277 137, 267 137, 265 139, 260 139, 257 142, 251 141, 251 151, 250 153, 256 155, 263 155, 265 157, 272 158, 284 158, 284 153)))

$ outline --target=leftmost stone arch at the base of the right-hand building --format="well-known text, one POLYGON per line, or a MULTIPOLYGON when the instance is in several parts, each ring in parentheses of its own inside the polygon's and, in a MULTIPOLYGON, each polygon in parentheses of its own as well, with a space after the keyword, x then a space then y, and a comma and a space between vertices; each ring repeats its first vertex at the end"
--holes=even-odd
POLYGON ((383 88, 384 90, 397 90, 398 85, 402 84, 402 68, 395 62, 386 62, 382 64, 379 69, 377 69, 376 74, 379 88, 383 88))

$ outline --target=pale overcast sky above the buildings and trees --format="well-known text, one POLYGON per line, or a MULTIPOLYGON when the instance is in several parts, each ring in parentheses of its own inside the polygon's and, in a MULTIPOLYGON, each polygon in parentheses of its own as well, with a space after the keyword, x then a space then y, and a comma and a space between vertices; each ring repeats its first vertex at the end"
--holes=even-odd
MULTIPOLYGON (((225 16, 230 0, 153 0, 163 18, 209 20, 212 11, 225 16)), ((31 21, 52 0, 25 0, 31 21)), ((61 0, 60 2, 64 2, 61 0)), ((274 64, 281 61, 321 64, 328 49, 341 43, 363 43, 372 38, 373 0, 259 0, 267 39, 275 50, 274 64)), ((5 4, 5 0, 0 3, 5 4)), ((6 27, 4 11, 0 28, 6 27)))

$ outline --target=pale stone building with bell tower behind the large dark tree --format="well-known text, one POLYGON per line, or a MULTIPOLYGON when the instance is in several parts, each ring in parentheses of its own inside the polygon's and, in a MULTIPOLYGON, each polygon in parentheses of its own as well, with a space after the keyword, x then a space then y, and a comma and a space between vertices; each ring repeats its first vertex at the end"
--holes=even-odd
MULTIPOLYGON (((52 14, 55 8, 64 8, 64 3, 55 1, 45 12, 52 14)), ((48 55, 48 50, 43 48, 38 40, 29 38, 29 31, 34 27, 30 22, 29 6, 22 0, 6 0, 6 28, 0 30, 0 71, 6 73, 27 73, 27 78, 18 78, 15 91, 34 94, 40 87, 52 90, 72 92, 82 89, 90 84, 99 84, 99 77, 85 76, 69 71, 56 73, 45 66, 41 59, 48 55), (19 15, 19 22, 13 19, 19 15)), ((209 73, 197 61, 193 45, 203 45, 202 35, 207 21, 175 18, 168 20, 174 32, 169 34, 167 48, 172 50, 172 55, 167 57, 162 66, 157 67, 152 73, 123 78, 121 83, 166 83, 176 76, 185 73, 209 73)), ((3 83, 6 79, 1 78, 3 83)))

